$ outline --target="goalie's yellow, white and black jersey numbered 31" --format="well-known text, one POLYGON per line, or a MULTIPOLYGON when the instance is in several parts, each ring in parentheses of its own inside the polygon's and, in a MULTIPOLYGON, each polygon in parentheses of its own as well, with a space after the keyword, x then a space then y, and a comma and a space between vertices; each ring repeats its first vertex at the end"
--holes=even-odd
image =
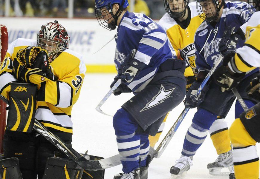
MULTIPOLYGON (((18 50, 37 46, 37 41, 18 38, 9 46, 0 70, 0 93, 9 99, 10 82, 17 81, 12 62, 18 50)), ((38 89, 44 100, 37 101, 35 118, 44 126, 72 133, 71 110, 79 98, 86 67, 82 55, 66 49, 51 62, 58 81, 45 81, 38 89)))

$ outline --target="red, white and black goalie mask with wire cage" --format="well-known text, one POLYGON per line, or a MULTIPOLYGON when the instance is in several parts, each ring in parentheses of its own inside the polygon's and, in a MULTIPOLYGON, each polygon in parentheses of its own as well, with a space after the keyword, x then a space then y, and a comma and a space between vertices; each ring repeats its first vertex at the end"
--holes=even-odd
POLYGON ((70 37, 67 30, 58 21, 49 22, 41 27, 37 34, 39 47, 48 51, 50 62, 53 61, 58 53, 69 47, 70 37))

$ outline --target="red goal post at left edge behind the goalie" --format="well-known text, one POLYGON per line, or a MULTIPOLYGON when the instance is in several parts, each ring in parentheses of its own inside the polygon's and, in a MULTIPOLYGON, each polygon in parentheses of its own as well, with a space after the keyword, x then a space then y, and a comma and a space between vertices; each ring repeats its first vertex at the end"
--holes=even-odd
MULTIPOLYGON (((0 54, 1 54, 1 61, 4 60, 4 56, 6 54, 7 48, 8 48, 8 32, 7 28, 4 25, 0 25, 1 30, 0 30, 0 54)), ((1 64, 1 63, 0 63, 1 64)), ((4 129, 6 125, 6 104, 0 100, 0 152, 3 152, 2 148, 2 142, 4 138, 4 129)))

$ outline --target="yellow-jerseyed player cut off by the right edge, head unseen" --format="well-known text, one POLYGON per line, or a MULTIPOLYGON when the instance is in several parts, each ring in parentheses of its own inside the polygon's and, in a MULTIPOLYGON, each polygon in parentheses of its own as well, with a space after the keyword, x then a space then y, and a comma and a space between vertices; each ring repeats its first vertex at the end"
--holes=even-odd
MULTIPOLYGON (((249 2, 250 3, 250 2, 249 2)), ((260 1, 251 1, 259 10, 260 1)), ((244 46, 238 48, 236 53, 224 57, 223 66, 214 73, 214 79, 221 86, 222 91, 230 90, 255 67, 260 67, 260 12, 250 18, 246 27, 246 41, 244 46)), ((228 41, 227 41, 228 42, 228 41)), ((229 43, 227 43, 229 44, 229 43)), ((227 47, 228 49, 228 47, 227 47)), ((260 100, 259 76, 250 83, 248 95, 260 100)), ((233 145, 233 162, 236 179, 258 179, 259 158, 256 153, 256 142, 259 137, 259 111, 260 103, 237 117, 230 127, 230 138, 233 145)))

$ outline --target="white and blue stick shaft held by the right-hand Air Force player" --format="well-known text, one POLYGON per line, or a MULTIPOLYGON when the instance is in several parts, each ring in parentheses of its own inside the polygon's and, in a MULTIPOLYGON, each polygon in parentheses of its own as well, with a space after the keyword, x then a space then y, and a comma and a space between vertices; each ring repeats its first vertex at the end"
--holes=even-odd
MULTIPOLYGON (((211 70, 209 71, 209 73, 207 74, 207 76, 205 77, 203 82, 201 83, 200 87, 198 88, 197 96, 201 93, 202 89, 204 88, 206 83, 209 81, 209 78, 211 77, 213 72, 216 70, 218 65, 221 63, 222 59, 223 59, 223 57, 220 57, 218 59, 218 61, 213 65, 213 67, 211 68, 211 70)), ((190 108, 183 109, 182 113, 179 115, 178 119, 175 121, 175 123, 173 124, 173 126, 171 127, 169 132, 163 138, 162 142, 158 145, 157 149, 156 150, 152 149, 151 152, 149 152, 149 154, 151 155, 152 159, 154 157, 155 158, 159 158, 162 155, 163 151, 166 149, 167 145, 171 141, 171 139, 172 139, 173 135, 175 134, 175 132, 177 131, 178 127, 181 125, 181 122, 185 118, 185 116, 188 113, 189 109, 190 108)))

